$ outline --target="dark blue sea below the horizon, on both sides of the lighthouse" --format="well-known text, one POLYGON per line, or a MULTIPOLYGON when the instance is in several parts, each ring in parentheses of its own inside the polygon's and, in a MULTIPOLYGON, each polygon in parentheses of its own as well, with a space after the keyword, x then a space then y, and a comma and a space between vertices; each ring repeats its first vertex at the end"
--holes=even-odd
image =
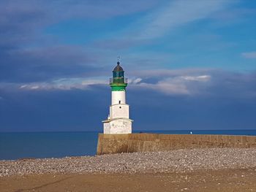
MULTIPOLYGON (((255 135, 254 130, 135 131, 157 134, 255 135)), ((0 160, 95 155, 99 132, 0 133, 0 160)))

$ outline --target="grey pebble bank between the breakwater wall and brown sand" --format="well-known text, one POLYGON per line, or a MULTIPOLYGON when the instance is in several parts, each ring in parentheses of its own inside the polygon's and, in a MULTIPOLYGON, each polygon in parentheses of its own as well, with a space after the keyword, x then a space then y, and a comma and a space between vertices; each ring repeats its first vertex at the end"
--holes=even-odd
POLYGON ((28 174, 146 174, 255 169, 256 148, 197 148, 148 153, 0 161, 0 177, 28 174))

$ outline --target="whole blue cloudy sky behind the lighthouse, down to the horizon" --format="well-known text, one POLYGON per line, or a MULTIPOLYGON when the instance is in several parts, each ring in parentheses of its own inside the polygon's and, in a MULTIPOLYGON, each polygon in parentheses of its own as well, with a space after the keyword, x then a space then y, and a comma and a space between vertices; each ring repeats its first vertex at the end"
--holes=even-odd
POLYGON ((0 1, 0 131, 256 129, 256 1, 0 1))

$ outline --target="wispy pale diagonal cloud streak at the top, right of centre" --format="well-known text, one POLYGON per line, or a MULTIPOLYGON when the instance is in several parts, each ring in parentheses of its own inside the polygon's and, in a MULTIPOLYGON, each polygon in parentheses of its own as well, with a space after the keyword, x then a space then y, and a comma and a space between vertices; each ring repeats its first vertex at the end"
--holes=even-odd
POLYGON ((151 13, 140 21, 140 25, 143 27, 138 38, 151 39, 161 37, 173 28, 195 20, 208 18, 214 12, 225 9, 227 3, 230 2, 226 0, 171 1, 170 4, 158 9, 157 12, 151 13))

